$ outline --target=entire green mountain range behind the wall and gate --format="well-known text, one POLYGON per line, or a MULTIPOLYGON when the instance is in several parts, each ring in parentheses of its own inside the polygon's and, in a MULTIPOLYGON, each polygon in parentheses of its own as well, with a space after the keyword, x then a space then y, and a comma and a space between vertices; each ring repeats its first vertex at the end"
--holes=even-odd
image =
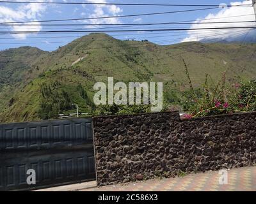
POLYGON ((93 85, 114 77, 121 82, 164 82, 164 96, 188 87, 184 63, 195 86, 205 74, 216 82, 256 77, 256 44, 120 41, 107 34, 89 34, 54 52, 20 47, 0 52, 0 122, 52 118, 58 113, 93 111, 93 85))

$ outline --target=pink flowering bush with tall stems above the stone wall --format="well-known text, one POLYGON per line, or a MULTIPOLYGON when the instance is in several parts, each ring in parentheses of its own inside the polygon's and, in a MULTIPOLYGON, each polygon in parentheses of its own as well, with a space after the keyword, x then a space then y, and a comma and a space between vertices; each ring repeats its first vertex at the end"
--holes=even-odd
MULTIPOLYGON (((182 105, 188 112, 186 119, 207 115, 220 115, 234 112, 256 111, 256 80, 250 82, 226 82, 226 72, 218 84, 209 87, 208 75, 201 88, 194 89, 184 61, 189 81, 189 91, 184 92, 182 105)), ((213 83, 212 83, 213 84, 213 83)))

